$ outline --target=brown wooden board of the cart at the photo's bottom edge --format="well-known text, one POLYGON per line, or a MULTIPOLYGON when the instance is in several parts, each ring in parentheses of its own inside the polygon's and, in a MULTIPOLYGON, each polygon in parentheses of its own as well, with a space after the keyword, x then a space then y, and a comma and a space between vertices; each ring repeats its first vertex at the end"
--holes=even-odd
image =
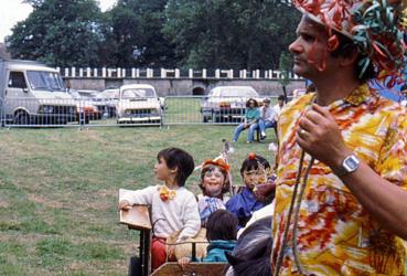
POLYGON ((227 263, 190 263, 185 270, 176 262, 169 262, 157 268, 151 276, 218 276, 227 263))

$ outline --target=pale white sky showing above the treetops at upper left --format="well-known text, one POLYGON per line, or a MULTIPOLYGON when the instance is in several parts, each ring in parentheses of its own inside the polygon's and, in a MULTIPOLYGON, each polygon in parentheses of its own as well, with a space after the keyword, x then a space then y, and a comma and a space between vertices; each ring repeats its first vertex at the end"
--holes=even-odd
MULTIPOLYGON (((117 0, 97 0, 100 9, 106 11, 111 8, 117 0)), ((4 42, 4 36, 11 34, 11 28, 17 22, 26 19, 32 12, 32 8, 28 3, 22 3, 23 0, 0 0, 0 42, 4 42)))

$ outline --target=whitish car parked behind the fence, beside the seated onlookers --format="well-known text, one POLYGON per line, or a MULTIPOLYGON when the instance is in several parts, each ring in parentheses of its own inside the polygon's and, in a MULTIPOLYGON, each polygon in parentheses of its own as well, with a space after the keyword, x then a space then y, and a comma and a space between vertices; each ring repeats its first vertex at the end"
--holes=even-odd
POLYGON ((239 123, 245 117, 246 102, 249 98, 260 100, 251 86, 217 86, 201 104, 202 119, 204 123, 239 123))

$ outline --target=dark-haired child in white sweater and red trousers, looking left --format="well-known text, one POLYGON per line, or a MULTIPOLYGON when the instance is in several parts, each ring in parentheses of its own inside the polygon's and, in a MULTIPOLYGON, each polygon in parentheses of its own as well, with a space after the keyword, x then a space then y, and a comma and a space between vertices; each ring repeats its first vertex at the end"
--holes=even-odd
POLYGON ((152 269, 165 263, 170 254, 165 250, 167 237, 180 231, 176 242, 182 242, 195 236, 201 229, 195 197, 184 188, 186 179, 194 170, 192 156, 182 149, 168 148, 158 153, 157 160, 154 173, 164 184, 127 191, 119 201, 120 210, 129 210, 135 204, 151 205, 152 269))

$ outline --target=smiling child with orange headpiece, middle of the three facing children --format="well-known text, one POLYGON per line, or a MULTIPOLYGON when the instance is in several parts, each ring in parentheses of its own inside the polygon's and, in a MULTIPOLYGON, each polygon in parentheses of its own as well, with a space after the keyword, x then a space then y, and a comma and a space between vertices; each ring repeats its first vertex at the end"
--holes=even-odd
POLYGON ((206 160, 201 169, 200 188, 202 194, 197 195, 197 208, 201 224, 205 227, 207 219, 216 210, 225 210, 229 190, 229 166, 223 159, 206 160))

